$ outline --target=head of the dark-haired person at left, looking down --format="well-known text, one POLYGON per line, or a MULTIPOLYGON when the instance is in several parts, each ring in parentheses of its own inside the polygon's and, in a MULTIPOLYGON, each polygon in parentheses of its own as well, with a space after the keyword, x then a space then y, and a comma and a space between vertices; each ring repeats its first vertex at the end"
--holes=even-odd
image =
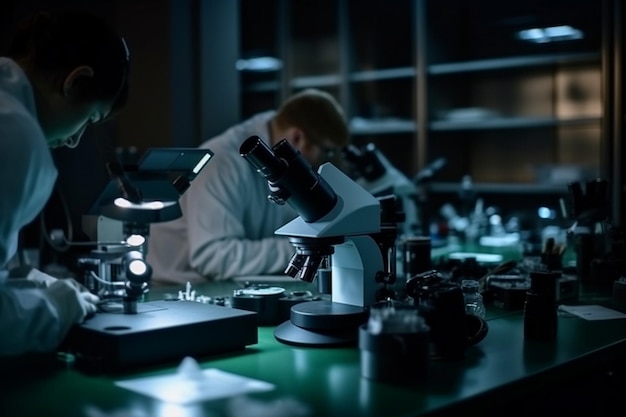
POLYGON ((7 56, 26 73, 48 145, 76 147, 85 129, 126 104, 124 39, 86 12, 38 12, 23 20, 7 56))

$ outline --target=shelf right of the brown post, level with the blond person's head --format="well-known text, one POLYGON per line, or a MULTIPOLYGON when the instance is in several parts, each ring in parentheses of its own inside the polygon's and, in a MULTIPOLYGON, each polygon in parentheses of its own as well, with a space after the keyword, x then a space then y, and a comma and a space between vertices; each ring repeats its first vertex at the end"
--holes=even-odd
POLYGON ((553 117, 497 117, 475 120, 437 120, 430 123, 431 131, 532 129, 556 126, 577 126, 599 123, 600 117, 556 119, 553 117))

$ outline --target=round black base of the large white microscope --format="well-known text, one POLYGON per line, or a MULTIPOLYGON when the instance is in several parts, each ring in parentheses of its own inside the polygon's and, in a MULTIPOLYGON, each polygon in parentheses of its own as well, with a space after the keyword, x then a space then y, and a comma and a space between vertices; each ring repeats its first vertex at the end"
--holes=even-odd
POLYGON ((358 343, 359 326, 367 318, 363 307, 308 301, 291 307, 291 320, 279 325, 274 337, 295 346, 353 346, 358 343))

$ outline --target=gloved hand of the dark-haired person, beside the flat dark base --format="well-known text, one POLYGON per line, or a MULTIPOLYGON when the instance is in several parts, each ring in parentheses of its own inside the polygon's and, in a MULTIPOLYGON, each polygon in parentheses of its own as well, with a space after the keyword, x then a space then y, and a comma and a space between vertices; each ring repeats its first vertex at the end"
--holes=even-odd
POLYGON ((95 313, 100 301, 72 278, 56 279, 44 292, 56 306, 62 327, 68 330, 71 325, 85 320, 88 314, 95 313))

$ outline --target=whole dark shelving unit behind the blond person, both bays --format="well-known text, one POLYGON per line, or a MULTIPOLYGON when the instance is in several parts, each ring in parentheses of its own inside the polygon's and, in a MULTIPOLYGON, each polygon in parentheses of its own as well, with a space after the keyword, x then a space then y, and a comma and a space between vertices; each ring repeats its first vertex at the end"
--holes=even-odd
POLYGON ((242 73, 242 115, 321 88, 409 178, 445 158, 432 193, 469 175, 484 193, 564 194, 601 170, 606 1, 240 0, 265 31, 242 25, 242 51, 283 62, 242 73), (520 38, 549 27, 560 39, 520 38))

